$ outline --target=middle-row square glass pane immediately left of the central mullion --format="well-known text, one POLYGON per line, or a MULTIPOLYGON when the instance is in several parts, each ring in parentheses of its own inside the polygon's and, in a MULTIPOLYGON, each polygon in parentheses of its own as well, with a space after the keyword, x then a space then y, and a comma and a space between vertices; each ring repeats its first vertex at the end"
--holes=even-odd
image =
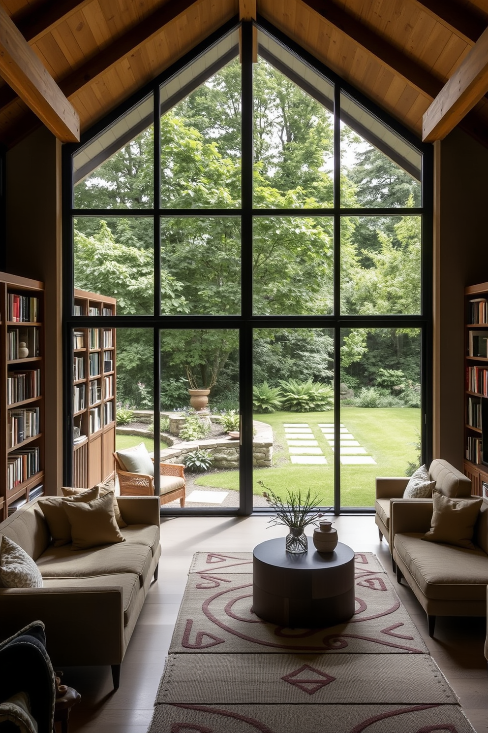
POLYGON ((161 312, 241 312, 241 220, 161 219, 161 312))

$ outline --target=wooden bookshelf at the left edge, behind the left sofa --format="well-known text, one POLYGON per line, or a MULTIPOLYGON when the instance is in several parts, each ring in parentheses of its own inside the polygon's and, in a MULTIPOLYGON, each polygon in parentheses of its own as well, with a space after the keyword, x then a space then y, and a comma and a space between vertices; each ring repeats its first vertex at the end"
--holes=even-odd
POLYGON ((0 520, 44 493, 44 284, 0 273, 0 520))

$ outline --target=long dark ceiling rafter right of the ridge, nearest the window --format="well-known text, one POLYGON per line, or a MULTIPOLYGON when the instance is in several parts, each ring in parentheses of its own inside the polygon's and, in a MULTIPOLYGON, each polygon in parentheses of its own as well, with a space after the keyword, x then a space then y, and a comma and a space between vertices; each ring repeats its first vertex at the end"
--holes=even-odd
POLYGON ((331 23, 342 33, 350 36, 359 43, 369 54, 376 56, 380 62, 388 66, 391 71, 402 75, 405 81, 415 86, 419 92, 435 98, 442 84, 424 67, 413 59, 402 54, 386 39, 370 30, 363 23, 359 23, 348 12, 343 12, 331 0, 301 0, 311 10, 317 12, 325 21, 331 23))

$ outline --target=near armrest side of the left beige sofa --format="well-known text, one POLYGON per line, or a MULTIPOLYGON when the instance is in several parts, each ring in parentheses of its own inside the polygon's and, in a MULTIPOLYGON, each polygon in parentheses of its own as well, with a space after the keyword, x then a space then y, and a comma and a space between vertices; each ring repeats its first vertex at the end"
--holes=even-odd
POLYGON ((32 619, 44 622, 46 648, 56 666, 120 664, 124 657, 119 587, 0 588, 2 638, 32 619))

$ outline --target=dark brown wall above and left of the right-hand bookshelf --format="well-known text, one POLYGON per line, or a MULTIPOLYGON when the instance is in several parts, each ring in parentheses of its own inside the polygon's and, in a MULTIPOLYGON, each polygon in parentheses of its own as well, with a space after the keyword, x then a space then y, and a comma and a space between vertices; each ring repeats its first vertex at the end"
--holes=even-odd
POLYGON ((488 281, 488 150, 454 130, 435 144, 434 448, 462 468, 466 285, 488 281))

